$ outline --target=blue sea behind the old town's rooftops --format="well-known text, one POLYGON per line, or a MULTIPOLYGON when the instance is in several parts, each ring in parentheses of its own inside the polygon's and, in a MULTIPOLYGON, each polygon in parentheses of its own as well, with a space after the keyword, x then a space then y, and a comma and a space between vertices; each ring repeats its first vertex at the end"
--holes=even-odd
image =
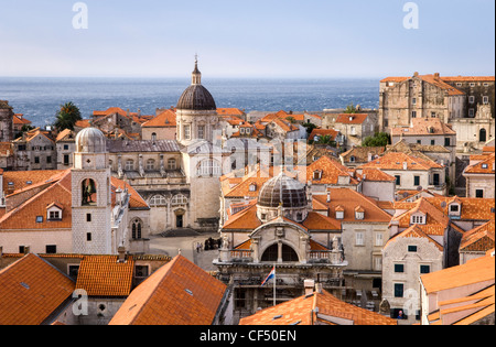
MULTIPOLYGON (((72 101, 83 118, 94 110, 120 107, 141 115, 177 104, 190 78, 0 77, 0 100, 35 127, 55 121, 60 106, 72 101)), ((250 111, 319 112, 349 104, 376 109, 379 79, 204 78, 218 108, 250 111)))

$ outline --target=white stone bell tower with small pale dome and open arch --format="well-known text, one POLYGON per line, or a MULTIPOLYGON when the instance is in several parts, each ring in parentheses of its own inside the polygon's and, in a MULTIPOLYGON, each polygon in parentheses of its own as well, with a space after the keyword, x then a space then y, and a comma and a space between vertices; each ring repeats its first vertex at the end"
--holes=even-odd
POLYGON ((76 137, 72 169, 72 228, 75 253, 117 253, 111 231, 110 186, 106 138, 98 129, 84 129, 76 137))

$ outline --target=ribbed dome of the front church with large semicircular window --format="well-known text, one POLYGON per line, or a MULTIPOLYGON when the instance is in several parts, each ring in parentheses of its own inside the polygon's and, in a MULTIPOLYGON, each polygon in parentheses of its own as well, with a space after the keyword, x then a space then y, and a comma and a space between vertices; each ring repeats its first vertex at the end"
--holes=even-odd
POLYGON ((308 206, 305 186, 283 173, 269 180, 260 188, 258 205, 261 207, 302 208, 308 206))

